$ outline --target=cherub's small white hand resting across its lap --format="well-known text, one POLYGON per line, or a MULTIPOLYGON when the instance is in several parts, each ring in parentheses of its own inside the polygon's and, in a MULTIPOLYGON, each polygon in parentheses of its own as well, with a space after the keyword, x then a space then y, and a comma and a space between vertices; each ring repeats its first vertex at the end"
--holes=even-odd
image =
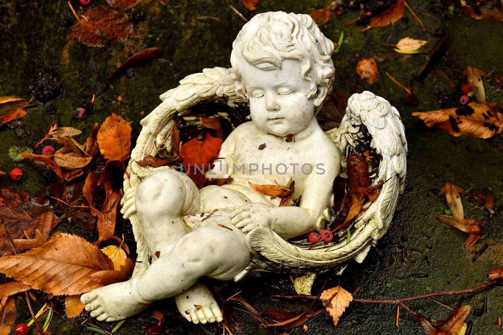
POLYGON ((240 206, 230 213, 231 223, 241 229, 243 233, 248 233, 259 227, 270 228, 272 222, 272 207, 254 202, 240 206))

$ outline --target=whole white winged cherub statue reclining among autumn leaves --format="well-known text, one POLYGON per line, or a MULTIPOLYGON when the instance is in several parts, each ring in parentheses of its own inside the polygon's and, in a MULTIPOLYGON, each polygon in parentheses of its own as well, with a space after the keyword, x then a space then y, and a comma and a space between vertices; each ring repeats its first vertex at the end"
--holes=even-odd
POLYGON ((331 89, 333 43, 308 15, 258 14, 232 47, 231 69, 186 77, 142 120, 122 199, 139 263, 132 279, 82 295, 98 320, 125 319, 173 296, 189 321, 221 321, 202 278, 237 281, 261 271, 320 272, 352 258, 361 262, 389 226, 405 178, 406 142, 396 109, 370 92, 355 94, 341 127, 321 130, 315 114, 331 89), (213 178, 231 176, 229 184, 198 189, 172 168, 136 164, 162 145, 171 148, 175 114, 189 113, 187 108, 201 100, 222 98, 229 105, 249 102, 251 116, 227 137, 220 158, 206 172, 213 178), (373 183, 387 182, 357 219, 350 243, 334 240, 308 249, 287 242, 323 229, 331 219, 333 180, 341 168, 344 174, 348 153, 367 132, 382 156, 373 183), (290 178, 295 191, 286 206, 248 184, 286 185, 290 178))

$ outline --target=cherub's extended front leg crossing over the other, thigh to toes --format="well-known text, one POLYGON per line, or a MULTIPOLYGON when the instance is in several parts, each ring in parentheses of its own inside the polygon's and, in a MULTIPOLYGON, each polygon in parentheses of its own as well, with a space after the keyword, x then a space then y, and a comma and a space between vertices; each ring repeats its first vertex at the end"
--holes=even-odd
MULTIPOLYGON (((250 261, 244 235, 231 225, 207 226, 182 237, 171 252, 131 280, 82 295, 86 310, 98 320, 116 321, 136 314, 149 303, 186 292, 199 278, 232 280, 250 261), (223 243, 224 242, 224 243, 223 243)), ((197 308, 191 318, 210 310, 197 308)))

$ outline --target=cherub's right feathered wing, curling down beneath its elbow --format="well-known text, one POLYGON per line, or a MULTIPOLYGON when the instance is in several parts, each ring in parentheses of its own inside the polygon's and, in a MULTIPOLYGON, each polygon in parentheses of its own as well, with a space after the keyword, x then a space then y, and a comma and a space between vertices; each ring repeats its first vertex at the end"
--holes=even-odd
MULTIPOLYGON (((404 189, 407 142, 400 115, 385 99, 369 91, 353 94, 348 101, 346 116, 338 129, 327 132, 338 146, 343 171, 351 148, 361 139, 372 137, 370 145, 381 155, 378 175, 373 184, 385 182, 377 199, 355 222, 355 232, 349 243, 329 243, 316 248, 292 245, 269 229, 248 233, 248 241, 256 253, 256 267, 247 271, 283 269, 291 272, 322 271, 352 258, 362 262, 372 244, 382 238, 389 227, 398 194, 404 189)), ((345 172, 343 172, 344 174, 345 172)), ((242 276, 248 273, 242 273, 242 276)))

